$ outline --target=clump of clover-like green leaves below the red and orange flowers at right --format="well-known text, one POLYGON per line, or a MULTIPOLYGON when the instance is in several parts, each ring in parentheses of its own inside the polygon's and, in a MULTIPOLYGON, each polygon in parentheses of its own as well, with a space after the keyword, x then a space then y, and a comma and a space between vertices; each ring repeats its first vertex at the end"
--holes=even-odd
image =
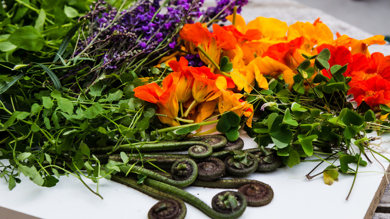
MULTIPOLYGON (((367 164, 359 155, 369 142, 365 133, 388 130, 389 124, 371 109, 363 105, 356 108, 349 102, 346 94, 350 78, 344 76, 347 65, 330 66, 328 49, 305 58, 295 69, 291 90, 284 88, 282 78, 267 78, 268 90, 250 93, 260 116, 252 122, 252 128, 244 129, 259 147, 273 143, 289 167, 314 155, 321 160, 338 159, 339 165, 332 161, 335 164, 323 171, 324 182, 330 185, 337 181, 339 171, 355 173, 357 163, 367 164), (312 59, 314 67, 310 66, 312 59)), ((390 113, 389 106, 379 107, 381 115, 390 113)))

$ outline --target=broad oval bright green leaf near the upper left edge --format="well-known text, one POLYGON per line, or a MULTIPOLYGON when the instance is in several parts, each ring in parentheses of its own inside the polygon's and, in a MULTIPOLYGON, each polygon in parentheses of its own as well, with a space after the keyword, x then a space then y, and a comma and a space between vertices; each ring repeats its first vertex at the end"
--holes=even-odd
POLYGON ((28 51, 39 51, 45 41, 33 26, 22 26, 11 33, 8 41, 28 51))

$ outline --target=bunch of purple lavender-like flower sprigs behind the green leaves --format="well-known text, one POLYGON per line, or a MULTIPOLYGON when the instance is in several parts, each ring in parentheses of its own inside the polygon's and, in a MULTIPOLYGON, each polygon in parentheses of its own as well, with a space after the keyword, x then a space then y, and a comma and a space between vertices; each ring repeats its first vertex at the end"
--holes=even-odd
POLYGON ((98 0, 84 16, 90 21, 90 33, 78 43, 75 54, 82 51, 98 56, 105 70, 169 54, 176 46, 181 26, 193 23, 201 15, 202 3, 203 0, 170 0, 166 13, 156 13, 160 0, 139 0, 123 11, 108 8, 98 0))

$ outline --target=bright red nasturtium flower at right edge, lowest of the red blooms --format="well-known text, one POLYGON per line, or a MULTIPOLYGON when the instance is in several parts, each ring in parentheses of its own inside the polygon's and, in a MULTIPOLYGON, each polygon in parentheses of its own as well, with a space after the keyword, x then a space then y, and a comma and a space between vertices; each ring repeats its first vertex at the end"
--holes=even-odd
POLYGON ((377 74, 351 87, 347 94, 353 94, 357 105, 364 101, 376 110, 379 104, 390 103, 390 82, 377 74))

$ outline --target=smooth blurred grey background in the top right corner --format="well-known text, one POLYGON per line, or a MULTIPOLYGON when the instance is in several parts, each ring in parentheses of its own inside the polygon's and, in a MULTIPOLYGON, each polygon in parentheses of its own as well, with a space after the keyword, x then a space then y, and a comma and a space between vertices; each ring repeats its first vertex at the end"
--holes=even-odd
POLYGON ((390 0, 295 0, 374 35, 390 35, 390 0))

